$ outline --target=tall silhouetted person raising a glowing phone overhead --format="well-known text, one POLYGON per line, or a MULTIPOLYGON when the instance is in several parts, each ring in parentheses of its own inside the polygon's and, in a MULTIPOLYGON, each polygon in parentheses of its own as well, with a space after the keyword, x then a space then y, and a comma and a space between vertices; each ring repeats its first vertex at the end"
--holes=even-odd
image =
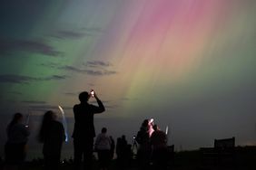
POLYGON ((74 105, 74 168, 80 169, 84 156, 84 169, 92 168, 94 152, 94 114, 102 113, 105 109, 103 103, 94 94, 98 107, 88 103, 91 95, 87 91, 79 94, 80 104, 74 105))

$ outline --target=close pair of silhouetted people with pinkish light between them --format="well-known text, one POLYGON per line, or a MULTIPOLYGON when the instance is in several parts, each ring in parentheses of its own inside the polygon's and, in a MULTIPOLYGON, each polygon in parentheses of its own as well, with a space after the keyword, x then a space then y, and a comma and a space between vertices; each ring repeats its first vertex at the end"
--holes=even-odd
POLYGON ((153 124, 153 118, 145 119, 135 137, 139 144, 137 160, 141 169, 166 169, 168 162, 167 135, 153 124))

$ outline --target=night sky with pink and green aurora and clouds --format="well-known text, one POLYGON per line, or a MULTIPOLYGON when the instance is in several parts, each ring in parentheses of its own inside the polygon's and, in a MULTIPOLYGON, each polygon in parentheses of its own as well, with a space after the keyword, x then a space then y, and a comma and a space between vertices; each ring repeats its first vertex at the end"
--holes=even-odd
MULTIPOLYGON (((144 118, 169 126, 175 150, 236 137, 256 145, 256 1, 3 0, 0 3, 0 156, 15 112, 30 114, 28 157, 45 110, 94 89, 108 127, 128 143, 144 118)), ((94 99, 90 103, 95 104, 94 99)), ((73 156, 72 139, 64 156, 73 156)))

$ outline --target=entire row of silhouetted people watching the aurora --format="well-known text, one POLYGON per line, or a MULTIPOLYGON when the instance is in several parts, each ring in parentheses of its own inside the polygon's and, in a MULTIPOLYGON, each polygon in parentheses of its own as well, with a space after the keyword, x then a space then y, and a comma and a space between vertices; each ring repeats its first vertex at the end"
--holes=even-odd
MULTIPOLYGON (((95 93, 88 93, 87 91, 79 94, 79 100, 80 103, 75 104, 73 108, 74 170, 81 169, 82 161, 84 161, 84 169, 92 169, 94 151, 98 154, 100 168, 106 170, 113 159, 113 137, 107 135, 106 127, 103 127, 102 132, 96 137, 94 129, 94 114, 103 113, 105 110, 103 102, 95 93), (98 106, 89 104, 90 98, 96 99, 98 106), (94 137, 96 137, 95 142, 94 137)), ((16 113, 7 127, 7 142, 5 144, 5 162, 7 164, 21 164, 25 160, 26 143, 30 129, 23 122, 23 115, 16 113)), ((64 139, 64 125, 57 120, 54 111, 46 111, 38 134, 39 142, 44 144, 45 169, 58 169, 64 139)), ((164 165, 167 137, 156 125, 153 125, 152 120, 145 119, 143 121, 135 141, 139 144, 137 158, 142 169, 147 168, 151 162, 153 165, 164 165)), ((121 165, 126 159, 125 156, 130 154, 131 145, 128 146, 125 136, 118 137, 116 155, 121 165)))

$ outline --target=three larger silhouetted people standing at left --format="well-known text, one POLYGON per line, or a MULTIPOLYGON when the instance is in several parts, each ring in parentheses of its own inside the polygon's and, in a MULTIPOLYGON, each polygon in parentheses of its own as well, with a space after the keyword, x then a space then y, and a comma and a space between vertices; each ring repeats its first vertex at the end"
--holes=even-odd
MULTIPOLYGON (((95 93, 81 92, 79 100, 80 103, 74 105, 74 133, 72 136, 74 138, 74 169, 80 169, 82 158, 84 158, 84 169, 92 169, 95 137, 94 114, 103 113, 105 108, 95 93), (96 99, 98 106, 89 104, 90 98, 96 99)), ((21 113, 15 113, 14 118, 7 126, 6 165, 18 166, 25 160, 30 129, 23 122, 24 116, 21 113)), ((103 129, 104 131, 106 128, 103 129)), ((38 134, 39 142, 44 144, 45 169, 58 169, 64 139, 64 125, 57 120, 54 111, 46 111, 38 134)), ((99 157, 102 156, 103 154, 99 153, 99 157)))

